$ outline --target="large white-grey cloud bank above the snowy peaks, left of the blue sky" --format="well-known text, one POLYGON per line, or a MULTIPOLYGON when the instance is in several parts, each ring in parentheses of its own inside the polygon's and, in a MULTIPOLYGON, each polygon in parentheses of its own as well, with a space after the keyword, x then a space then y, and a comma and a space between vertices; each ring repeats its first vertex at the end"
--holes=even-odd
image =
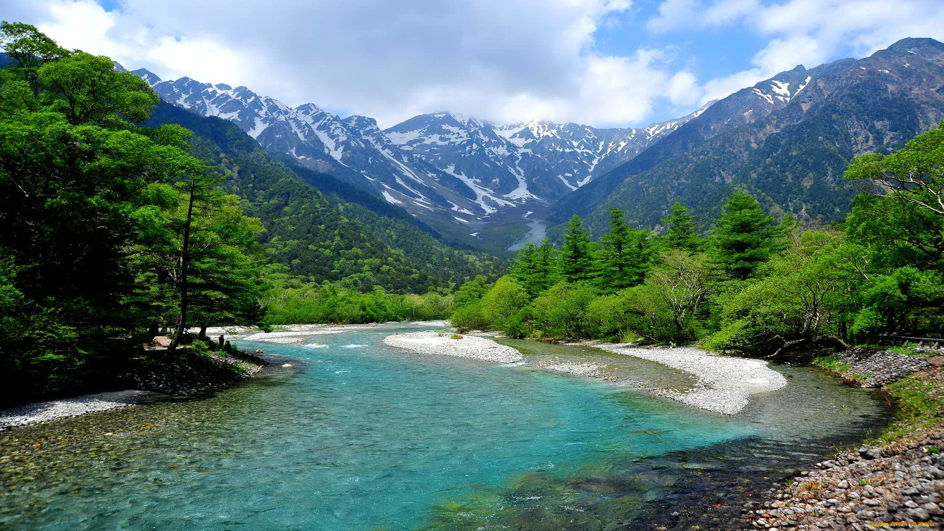
POLYGON ((93 0, 14 3, 28 12, 24 22, 60 43, 127 68, 245 85, 381 126, 441 110, 509 122, 645 124, 672 97, 676 74, 650 50, 598 51, 598 27, 630 16, 629 0, 284 0, 264 9, 123 0, 111 12, 93 0))

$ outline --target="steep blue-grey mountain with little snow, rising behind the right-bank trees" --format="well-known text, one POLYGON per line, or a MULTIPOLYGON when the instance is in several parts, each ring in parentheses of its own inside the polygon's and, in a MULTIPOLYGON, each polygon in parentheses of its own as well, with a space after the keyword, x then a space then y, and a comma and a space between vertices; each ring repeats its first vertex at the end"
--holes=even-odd
POLYGON ((941 120, 944 44, 932 39, 800 65, 716 102, 559 201, 550 218, 582 214, 599 233, 613 206, 654 228, 678 200, 706 222, 742 189, 774 214, 839 220, 856 193, 842 180, 853 156, 897 149, 941 120))

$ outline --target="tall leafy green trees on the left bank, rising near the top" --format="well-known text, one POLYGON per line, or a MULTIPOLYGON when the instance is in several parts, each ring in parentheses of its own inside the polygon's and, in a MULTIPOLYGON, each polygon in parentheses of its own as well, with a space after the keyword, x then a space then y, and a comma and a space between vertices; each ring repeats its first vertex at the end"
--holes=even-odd
POLYGON ((182 332, 188 295, 192 316, 258 316, 261 227, 214 189, 186 129, 139 127, 150 87, 33 26, 4 23, 0 41, 4 392, 55 392, 120 361, 126 337, 182 332))

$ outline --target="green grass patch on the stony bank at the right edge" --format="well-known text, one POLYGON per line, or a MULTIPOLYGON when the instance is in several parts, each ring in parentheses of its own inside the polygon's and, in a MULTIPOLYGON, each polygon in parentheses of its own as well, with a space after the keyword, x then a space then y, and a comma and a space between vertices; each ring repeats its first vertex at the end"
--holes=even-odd
POLYGON ((896 420, 870 443, 889 444, 941 421, 944 370, 902 378, 888 385, 888 392, 897 404, 896 420))

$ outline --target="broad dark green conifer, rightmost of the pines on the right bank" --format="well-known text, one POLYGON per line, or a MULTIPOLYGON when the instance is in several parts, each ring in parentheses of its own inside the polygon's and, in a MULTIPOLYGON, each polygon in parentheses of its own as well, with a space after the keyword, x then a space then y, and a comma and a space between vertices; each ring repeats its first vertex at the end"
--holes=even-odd
POLYGON ((734 192, 724 208, 717 221, 712 258, 730 276, 744 280, 784 248, 783 228, 774 225, 773 216, 744 192, 734 192))

